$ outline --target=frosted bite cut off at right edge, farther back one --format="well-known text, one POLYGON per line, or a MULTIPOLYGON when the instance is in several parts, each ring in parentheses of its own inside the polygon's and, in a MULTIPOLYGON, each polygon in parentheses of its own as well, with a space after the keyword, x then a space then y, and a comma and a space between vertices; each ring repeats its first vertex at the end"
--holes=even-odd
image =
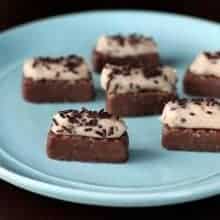
POLYGON ((196 57, 185 75, 184 90, 189 95, 220 98, 220 51, 196 57))

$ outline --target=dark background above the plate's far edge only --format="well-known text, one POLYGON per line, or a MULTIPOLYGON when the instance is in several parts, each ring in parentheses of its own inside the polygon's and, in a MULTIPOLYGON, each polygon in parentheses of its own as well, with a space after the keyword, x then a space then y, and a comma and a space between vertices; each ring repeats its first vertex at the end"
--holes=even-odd
POLYGON ((0 29, 56 14, 120 8, 169 11, 220 21, 219 0, 1 0, 0 29))

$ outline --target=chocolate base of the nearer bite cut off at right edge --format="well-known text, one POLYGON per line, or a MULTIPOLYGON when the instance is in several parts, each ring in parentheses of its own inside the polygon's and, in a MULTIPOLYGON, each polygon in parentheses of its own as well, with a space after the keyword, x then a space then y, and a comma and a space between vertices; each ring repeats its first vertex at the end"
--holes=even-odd
POLYGON ((220 130, 163 127, 162 145, 168 150, 220 151, 220 130))

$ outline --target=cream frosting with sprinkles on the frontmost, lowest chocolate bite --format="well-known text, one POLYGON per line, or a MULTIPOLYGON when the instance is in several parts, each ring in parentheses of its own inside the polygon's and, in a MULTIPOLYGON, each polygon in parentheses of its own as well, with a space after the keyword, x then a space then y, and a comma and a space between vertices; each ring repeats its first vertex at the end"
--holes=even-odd
POLYGON ((83 113, 81 118, 77 118, 77 123, 70 122, 65 113, 62 117, 57 113, 53 117, 51 131, 59 135, 79 135, 93 138, 120 138, 126 132, 126 125, 120 119, 111 118, 97 118, 96 125, 88 125, 87 122, 93 118, 89 117, 87 113, 83 113), (54 121, 55 119, 55 121, 54 121), (63 129, 65 127, 65 129, 63 129), (105 130, 105 134, 103 134, 105 130))

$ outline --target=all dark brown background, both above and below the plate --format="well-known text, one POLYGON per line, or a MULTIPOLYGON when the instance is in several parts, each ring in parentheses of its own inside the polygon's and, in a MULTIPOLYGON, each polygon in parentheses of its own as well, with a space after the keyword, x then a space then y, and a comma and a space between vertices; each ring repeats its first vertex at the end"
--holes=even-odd
MULTIPOLYGON (((219 1, 103 1, 98 3, 91 1, 76 0, 1 0, 0 3, 0 30, 7 29, 26 21, 48 17, 56 14, 64 14, 75 11, 91 9, 153 9, 170 11, 182 14, 199 16, 210 20, 220 21, 219 1)), ((220 39, 220 38, 219 38, 220 39)), ((1 42, 0 42, 1 45, 1 42)), ((1 49, 1 48, 0 48, 1 49)), ((119 215, 122 218, 180 218, 181 216, 195 215, 210 219, 220 215, 220 196, 204 199, 187 204, 164 206, 159 208, 104 208, 94 206, 77 205, 49 199, 29 193, 3 181, 0 181, 0 219, 115 219, 119 215), (143 214, 143 217, 141 215, 143 214), (212 217, 211 217, 212 216, 212 217)))

